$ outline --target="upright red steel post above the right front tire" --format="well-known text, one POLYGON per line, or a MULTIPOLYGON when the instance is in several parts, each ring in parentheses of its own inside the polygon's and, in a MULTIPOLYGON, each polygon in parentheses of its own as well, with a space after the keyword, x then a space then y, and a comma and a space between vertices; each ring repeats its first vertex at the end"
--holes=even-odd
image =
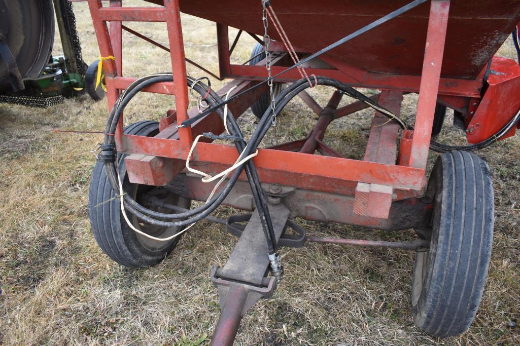
POLYGON ((433 116, 437 104, 437 98, 432 95, 437 95, 439 90, 449 11, 450 0, 432 0, 417 116, 413 130, 410 162, 408 162, 411 167, 425 168, 428 159, 433 116))

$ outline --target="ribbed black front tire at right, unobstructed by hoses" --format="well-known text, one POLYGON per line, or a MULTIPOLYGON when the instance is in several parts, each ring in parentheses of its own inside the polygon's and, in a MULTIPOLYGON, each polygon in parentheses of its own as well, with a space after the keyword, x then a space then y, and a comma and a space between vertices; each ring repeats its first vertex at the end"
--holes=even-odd
POLYGON ((426 197, 434 201, 431 245, 415 254, 413 320, 432 336, 456 336, 475 318, 491 258, 495 204, 487 164, 462 151, 439 156, 426 197))

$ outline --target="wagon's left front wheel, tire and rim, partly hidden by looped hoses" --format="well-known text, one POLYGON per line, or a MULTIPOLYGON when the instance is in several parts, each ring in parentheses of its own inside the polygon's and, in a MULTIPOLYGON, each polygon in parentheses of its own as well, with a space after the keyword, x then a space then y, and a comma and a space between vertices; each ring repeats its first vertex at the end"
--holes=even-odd
MULTIPOLYGON (((124 131, 124 133, 128 135, 147 137, 154 136, 158 132, 159 123, 153 121, 142 121, 132 124, 124 131)), ((119 161, 119 172, 123 179, 123 189, 136 199, 136 201, 139 202, 139 196, 142 196, 143 193, 153 192, 152 190, 157 189, 153 186, 129 182, 126 175, 124 155, 120 157, 119 161)), ((165 192, 161 190, 161 193, 165 192)), ((177 245, 179 236, 170 241, 160 242, 137 234, 128 227, 128 224, 124 220, 121 213, 120 200, 119 198, 114 198, 116 195, 119 195, 119 191, 114 192, 112 190, 109 178, 105 172, 104 163, 98 161, 94 166, 92 181, 90 182, 88 214, 90 226, 92 227, 94 238, 99 247, 101 247, 108 257, 125 267, 150 267, 151 265, 159 263, 170 254, 177 245), (111 200, 111 198, 114 199, 111 200)), ((167 192, 165 200, 170 204, 183 208, 189 208, 191 204, 189 199, 181 198, 169 192, 167 192)), ((159 207, 154 208, 154 210, 159 212, 171 212, 159 207)), ((129 211, 126 211, 126 215, 134 227, 155 237, 165 238, 179 231, 177 227, 166 228, 146 224, 129 211)))

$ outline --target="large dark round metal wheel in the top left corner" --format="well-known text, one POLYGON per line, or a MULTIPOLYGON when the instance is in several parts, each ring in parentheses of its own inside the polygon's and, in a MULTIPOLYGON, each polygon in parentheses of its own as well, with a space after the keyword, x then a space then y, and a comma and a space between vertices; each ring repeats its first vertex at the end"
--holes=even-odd
MULTIPOLYGON (((54 11, 51 0, 0 0, 0 30, 23 79, 40 76, 54 43, 54 11)), ((0 90, 10 89, 9 73, 0 61, 0 90)))

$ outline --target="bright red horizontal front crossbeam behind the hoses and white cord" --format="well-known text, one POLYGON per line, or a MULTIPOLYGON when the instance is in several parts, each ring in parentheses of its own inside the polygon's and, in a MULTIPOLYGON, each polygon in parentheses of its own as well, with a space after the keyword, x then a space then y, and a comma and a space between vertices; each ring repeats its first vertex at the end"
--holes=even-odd
MULTIPOLYGON (((123 139, 126 153, 184 158, 178 140, 130 135, 125 135, 123 139)), ((199 143, 193 161, 231 166, 237 158, 236 148, 230 145, 199 143)), ((425 172, 421 168, 271 149, 259 149, 258 156, 253 160, 259 170, 279 171, 280 183, 288 186, 294 186, 294 179, 306 179, 305 182, 309 182, 313 177, 323 177, 420 191, 423 188, 425 172)))

